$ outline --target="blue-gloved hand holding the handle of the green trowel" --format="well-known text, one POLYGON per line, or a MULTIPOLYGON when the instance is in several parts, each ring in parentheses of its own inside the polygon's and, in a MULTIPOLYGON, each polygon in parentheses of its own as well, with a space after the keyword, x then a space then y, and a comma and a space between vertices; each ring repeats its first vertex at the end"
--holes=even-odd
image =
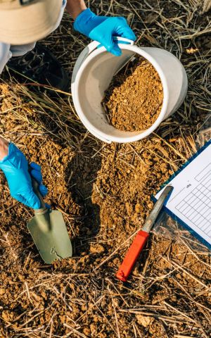
POLYGON ((41 168, 36 163, 29 165, 24 154, 11 143, 8 147, 8 155, 0 161, 0 169, 4 171, 6 180, 11 191, 11 196, 17 201, 33 209, 40 208, 40 201, 32 189, 32 177, 39 183, 39 191, 42 196, 48 193, 48 189, 41 183, 41 168))

